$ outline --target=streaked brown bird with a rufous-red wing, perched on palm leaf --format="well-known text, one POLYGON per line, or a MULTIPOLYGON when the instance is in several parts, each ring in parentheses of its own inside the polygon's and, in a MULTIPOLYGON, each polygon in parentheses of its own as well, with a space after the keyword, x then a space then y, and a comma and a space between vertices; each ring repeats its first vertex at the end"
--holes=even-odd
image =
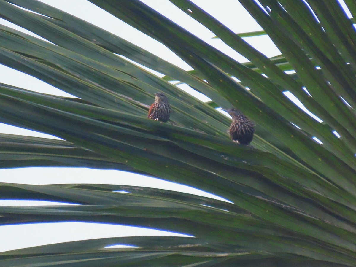
POLYGON ((167 96, 160 92, 155 95, 155 101, 148 111, 148 119, 167 122, 171 115, 171 106, 168 104, 167 96))

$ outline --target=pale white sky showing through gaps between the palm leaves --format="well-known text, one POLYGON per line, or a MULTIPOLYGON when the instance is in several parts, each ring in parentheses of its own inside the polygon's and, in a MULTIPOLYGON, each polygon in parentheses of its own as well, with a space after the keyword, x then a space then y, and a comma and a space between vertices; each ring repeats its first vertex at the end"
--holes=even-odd
MULTIPOLYGON (((190 67, 178 58, 167 47, 153 40, 151 37, 144 35, 135 28, 120 21, 114 16, 108 14, 91 4, 86 0, 63 1, 63 0, 41 0, 49 5, 62 9, 81 19, 89 21, 96 26, 104 28, 126 40, 138 45, 157 56, 176 64, 177 66, 190 70, 190 67)), ((229 56, 240 62, 247 60, 233 49, 226 46, 219 39, 212 39, 214 33, 210 32, 200 23, 193 20, 184 12, 180 11, 168 0, 141 0, 147 5, 156 9, 158 12, 169 17, 169 19, 187 28, 190 32, 220 49, 229 56)), ((193 0, 193 2, 236 33, 260 31, 262 28, 248 14, 248 12, 236 0, 193 0)), ((21 30, 20 27, 13 25, 5 20, 0 19, 0 23, 21 30)), ((29 33, 22 29, 23 32, 29 33)), ((33 34, 32 34, 33 35, 33 34)), ((277 47, 272 43, 268 36, 245 38, 252 46, 257 48, 268 57, 280 54, 277 47)), ((69 94, 52 87, 49 84, 31 77, 30 75, 18 72, 3 65, 0 65, 1 83, 26 88, 41 93, 70 96, 69 94)), ((191 91, 188 85, 180 85, 179 88, 191 91)), ((206 101, 206 97, 195 94, 195 97, 206 101)), ((55 138, 44 133, 33 132, 17 127, 0 124, 1 133, 12 133, 19 135, 38 136, 55 138)), ((103 183, 103 184, 125 184, 140 185, 147 187, 176 190, 192 194, 214 197, 211 194, 204 193, 198 189, 189 188, 184 185, 178 185, 167 181, 143 177, 137 174, 125 173, 115 170, 93 170, 88 168, 19 168, 19 169, 1 169, 0 182, 6 183, 23 183, 23 184, 54 184, 54 183, 103 183), (99 178, 100 177, 100 178, 99 178)), ((214 197, 218 198, 218 197, 214 197)), ((51 205, 53 203, 50 203, 51 205)), ((60 203, 58 203, 60 204, 60 203)), ((43 201, 16 201, 0 200, 0 205, 7 206, 24 206, 24 205, 48 205, 43 201)), ((57 223, 57 224, 29 224, 29 225, 9 225, 0 226, 0 252, 14 250, 17 248, 52 244, 57 242, 67 242, 83 239, 93 239, 100 237, 115 236, 137 236, 137 235, 179 235, 158 230, 140 229, 137 227, 89 224, 89 223, 57 223), (47 233, 47 234, 46 234, 47 233), (38 237, 42 238, 38 238, 38 237)))

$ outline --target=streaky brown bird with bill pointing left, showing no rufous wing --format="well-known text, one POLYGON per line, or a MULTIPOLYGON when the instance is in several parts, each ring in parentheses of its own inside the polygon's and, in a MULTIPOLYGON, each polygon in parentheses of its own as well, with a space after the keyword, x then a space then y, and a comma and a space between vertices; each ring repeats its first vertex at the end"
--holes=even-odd
POLYGON ((232 141, 241 145, 249 145, 255 132, 255 124, 237 109, 222 109, 232 117, 229 133, 232 141))

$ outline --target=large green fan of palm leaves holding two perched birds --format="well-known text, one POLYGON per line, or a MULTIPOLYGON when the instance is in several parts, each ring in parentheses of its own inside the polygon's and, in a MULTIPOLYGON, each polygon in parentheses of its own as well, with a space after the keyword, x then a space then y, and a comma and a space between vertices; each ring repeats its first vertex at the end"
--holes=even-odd
POLYGON ((124 185, 1 183, 2 199, 82 204, 1 206, 1 225, 75 220, 192 237, 113 237, 24 248, 0 253, 0 265, 353 266, 355 31, 341 7, 308 1, 319 23, 303 1, 279 1, 283 7, 260 1, 267 14, 254 1, 240 0, 282 51, 267 58, 242 39, 246 35, 236 35, 197 5, 171 0, 251 61, 241 64, 140 1, 91 2, 162 42, 194 71, 42 2, 1 1, 0 17, 55 45, 0 26, 0 63, 80 98, 0 84, 1 122, 65 140, 1 134, 1 168, 118 169, 190 185, 231 203, 124 185), (115 53, 166 76, 158 78, 115 53), (202 103, 172 80, 212 101, 202 103), (166 124, 146 118, 157 91, 167 94, 173 107, 166 124), (254 148, 232 143, 229 119, 213 108, 232 106, 256 123, 254 148), (131 194, 115 192, 120 190, 131 194), (103 249, 113 244, 138 248, 103 249))

